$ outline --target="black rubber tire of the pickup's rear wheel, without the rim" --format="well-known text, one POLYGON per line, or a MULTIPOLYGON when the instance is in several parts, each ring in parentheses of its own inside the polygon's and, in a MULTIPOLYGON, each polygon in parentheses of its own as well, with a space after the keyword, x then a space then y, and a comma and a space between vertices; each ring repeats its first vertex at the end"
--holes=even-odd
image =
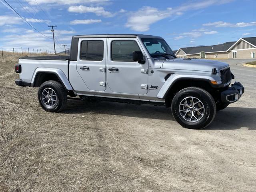
POLYGON ((60 112, 61 110, 63 110, 65 108, 67 100, 68 100, 68 95, 67 95, 67 92, 66 92, 64 86, 57 81, 46 81, 46 82, 42 83, 42 85, 39 87, 38 101, 39 101, 41 107, 45 111, 60 112), (56 103, 52 107, 46 106, 43 102, 42 92, 47 88, 54 90, 54 92, 56 93, 56 103))

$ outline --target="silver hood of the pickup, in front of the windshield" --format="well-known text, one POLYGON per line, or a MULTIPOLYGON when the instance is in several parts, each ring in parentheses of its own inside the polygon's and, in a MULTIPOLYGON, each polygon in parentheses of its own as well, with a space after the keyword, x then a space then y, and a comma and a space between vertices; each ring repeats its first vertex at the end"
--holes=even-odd
POLYGON ((219 72, 221 68, 229 66, 226 63, 216 60, 205 59, 183 59, 175 58, 173 60, 166 60, 163 63, 163 69, 175 69, 175 70, 193 70, 193 71, 206 71, 212 72, 212 68, 216 68, 219 72))

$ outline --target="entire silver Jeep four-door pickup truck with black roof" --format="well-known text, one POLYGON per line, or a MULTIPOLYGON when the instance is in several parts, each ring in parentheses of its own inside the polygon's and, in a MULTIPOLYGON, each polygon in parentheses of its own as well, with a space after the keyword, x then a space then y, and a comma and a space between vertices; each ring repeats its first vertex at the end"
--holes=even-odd
POLYGON ((73 36, 70 56, 23 57, 15 70, 17 85, 39 87, 39 103, 48 112, 63 110, 76 96, 164 105, 193 129, 208 126, 216 111, 244 93, 238 82, 229 86, 234 75, 228 64, 176 58, 163 38, 150 35, 73 36))

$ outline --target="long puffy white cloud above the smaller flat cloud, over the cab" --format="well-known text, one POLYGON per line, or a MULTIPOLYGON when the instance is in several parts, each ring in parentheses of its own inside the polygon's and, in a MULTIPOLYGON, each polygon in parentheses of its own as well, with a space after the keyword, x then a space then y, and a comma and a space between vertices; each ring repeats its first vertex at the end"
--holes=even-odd
POLYGON ((70 6, 68 8, 69 12, 74 13, 95 13, 98 16, 104 16, 104 17, 113 17, 114 14, 111 12, 105 11, 103 7, 87 7, 87 6, 70 6))

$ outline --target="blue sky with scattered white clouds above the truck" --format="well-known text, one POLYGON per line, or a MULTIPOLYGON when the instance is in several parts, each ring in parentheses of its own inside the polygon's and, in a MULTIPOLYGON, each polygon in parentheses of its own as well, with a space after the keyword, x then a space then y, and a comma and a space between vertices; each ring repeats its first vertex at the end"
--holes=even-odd
POLYGON ((53 51, 48 25, 57 25, 56 51, 78 34, 151 34, 172 50, 256 36, 256 0, 0 0, 4 50, 53 51), (20 18, 12 6, 29 24, 20 18), (49 38, 48 38, 49 37, 49 38))

